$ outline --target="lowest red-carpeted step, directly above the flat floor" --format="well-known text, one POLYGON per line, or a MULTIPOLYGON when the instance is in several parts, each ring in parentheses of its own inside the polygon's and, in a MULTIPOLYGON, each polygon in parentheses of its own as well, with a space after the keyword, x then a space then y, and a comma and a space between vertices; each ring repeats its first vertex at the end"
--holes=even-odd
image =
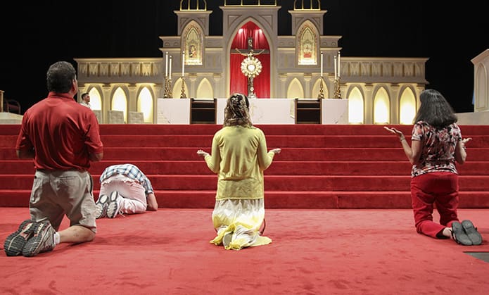
MULTIPOLYGON (((160 208, 213 208, 215 190, 156 190, 160 208)), ((28 207, 30 190, 0 189, 3 207, 28 207)), ((94 199, 99 190, 94 190, 94 199)), ((489 192, 460 192, 459 208, 489 208, 489 192)), ((305 192, 267 191, 265 208, 270 209, 409 209, 411 196, 408 191, 386 192, 305 192)))

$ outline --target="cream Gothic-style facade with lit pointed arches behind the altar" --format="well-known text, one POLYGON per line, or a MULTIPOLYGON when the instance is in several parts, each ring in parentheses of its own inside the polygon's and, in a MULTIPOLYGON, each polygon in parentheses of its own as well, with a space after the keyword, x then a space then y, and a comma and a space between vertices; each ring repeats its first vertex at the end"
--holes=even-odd
POLYGON ((160 99, 227 98, 231 89, 231 44, 240 28, 252 22, 262 30, 270 48, 269 97, 258 99, 315 99, 320 93, 324 94, 321 98, 336 99, 338 81, 341 97, 348 100, 348 123, 412 124, 419 106, 417 97, 427 84, 428 58, 341 56, 337 69, 341 77, 336 80, 335 58, 341 52, 341 36, 323 34, 326 11, 314 5, 302 8, 305 2, 310 3, 303 1, 302 6, 298 4, 299 8, 288 11, 291 35, 279 36, 277 4, 226 2, 220 6, 222 36, 208 33, 212 11, 181 8, 174 11, 178 18, 177 36, 160 36, 161 58, 75 58, 80 93, 90 93, 92 108, 100 110, 101 123, 108 123, 108 111, 113 110, 122 111, 126 123, 131 113, 144 113, 145 123, 158 123, 160 99), (312 37, 305 37, 305 33, 312 37), (313 44, 306 60, 301 54, 307 38, 313 44), (166 53, 172 57, 170 73, 166 53))

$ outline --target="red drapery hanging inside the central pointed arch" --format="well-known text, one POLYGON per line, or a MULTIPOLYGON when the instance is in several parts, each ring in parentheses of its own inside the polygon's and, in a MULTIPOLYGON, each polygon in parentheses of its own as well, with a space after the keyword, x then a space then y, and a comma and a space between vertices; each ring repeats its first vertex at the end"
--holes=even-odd
MULTIPOLYGON (((269 52, 269 44, 267 37, 263 34, 258 25, 253 22, 248 22, 238 31, 231 44, 231 50, 234 49, 248 49, 248 37, 253 37, 253 50, 260 52, 261 49, 267 49, 269 52)), ((260 54, 255 56, 262 63, 262 72, 258 77, 253 80, 253 86, 255 87, 256 96, 259 99, 265 99, 270 97, 270 54, 260 54)), ((246 56, 242 56, 239 53, 231 53, 229 63, 229 75, 230 75, 230 92, 248 94, 248 78, 241 73, 241 62, 246 56)))

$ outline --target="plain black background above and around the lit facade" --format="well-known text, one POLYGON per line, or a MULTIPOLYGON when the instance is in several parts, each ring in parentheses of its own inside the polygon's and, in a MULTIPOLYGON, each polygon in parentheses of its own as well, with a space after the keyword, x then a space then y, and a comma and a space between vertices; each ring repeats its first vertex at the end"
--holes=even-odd
MULTIPOLYGON (((224 0, 207 2, 210 35, 222 35, 224 0)), ((291 35, 293 2, 277 0, 279 35, 291 35)), ((179 0, 4 1, 0 89, 25 111, 46 96, 46 70, 56 61, 76 67, 74 58, 162 57, 159 37, 177 35, 179 5, 179 0)), ((426 88, 442 92, 457 113, 474 111, 471 59, 489 49, 489 1, 322 0, 321 6, 327 11, 323 34, 342 36, 342 57, 429 58, 426 88)))

